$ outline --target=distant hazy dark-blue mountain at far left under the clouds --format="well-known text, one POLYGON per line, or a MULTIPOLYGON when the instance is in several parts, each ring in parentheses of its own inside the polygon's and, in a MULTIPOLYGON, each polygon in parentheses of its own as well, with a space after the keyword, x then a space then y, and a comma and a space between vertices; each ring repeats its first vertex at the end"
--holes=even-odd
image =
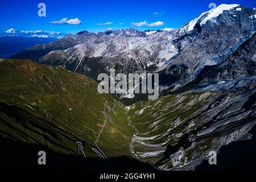
POLYGON ((38 38, 24 36, 0 36, 0 57, 7 58, 36 44, 46 44, 56 38, 38 38))

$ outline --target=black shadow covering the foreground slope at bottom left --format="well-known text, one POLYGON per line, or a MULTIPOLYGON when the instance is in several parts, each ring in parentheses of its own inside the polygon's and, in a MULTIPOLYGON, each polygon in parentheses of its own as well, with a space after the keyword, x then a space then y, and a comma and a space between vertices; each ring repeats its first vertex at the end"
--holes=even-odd
POLYGON ((0 142, 0 170, 4 171, 156 171, 148 164, 128 157, 85 159, 84 156, 52 152, 47 147, 13 140, 0 142), (38 164, 38 152, 46 152, 46 165, 38 164))

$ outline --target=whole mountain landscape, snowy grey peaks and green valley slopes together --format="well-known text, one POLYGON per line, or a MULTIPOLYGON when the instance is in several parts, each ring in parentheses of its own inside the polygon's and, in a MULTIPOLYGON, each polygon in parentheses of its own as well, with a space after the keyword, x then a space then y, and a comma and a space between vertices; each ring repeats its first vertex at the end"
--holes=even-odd
POLYGON ((210 151, 253 141, 255 27, 256 9, 220 5, 171 31, 82 31, 25 49, 0 61, 0 139, 67 154, 85 141, 90 157, 196 169, 210 151), (162 96, 127 105, 99 94, 111 68, 159 73, 162 96))

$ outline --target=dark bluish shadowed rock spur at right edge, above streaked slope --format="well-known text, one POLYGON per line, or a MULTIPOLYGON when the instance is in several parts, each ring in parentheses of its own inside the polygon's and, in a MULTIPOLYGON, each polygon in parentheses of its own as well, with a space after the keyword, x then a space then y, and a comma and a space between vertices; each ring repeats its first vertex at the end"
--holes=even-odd
POLYGON ((194 90, 244 92, 256 82, 256 34, 246 40, 236 52, 207 73, 197 76, 191 84, 194 90))

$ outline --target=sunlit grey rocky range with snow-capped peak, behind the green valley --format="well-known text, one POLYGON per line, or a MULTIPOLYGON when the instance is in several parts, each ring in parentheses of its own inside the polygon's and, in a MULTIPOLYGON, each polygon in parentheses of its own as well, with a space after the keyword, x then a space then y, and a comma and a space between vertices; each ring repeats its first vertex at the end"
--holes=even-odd
POLYGON ((14 57, 60 65, 93 78, 110 68, 123 73, 160 72, 160 90, 176 90, 205 66, 220 64, 250 38, 256 30, 255 12, 240 5, 220 5, 170 32, 82 31, 14 57), (92 64, 93 58, 97 61, 92 64))

